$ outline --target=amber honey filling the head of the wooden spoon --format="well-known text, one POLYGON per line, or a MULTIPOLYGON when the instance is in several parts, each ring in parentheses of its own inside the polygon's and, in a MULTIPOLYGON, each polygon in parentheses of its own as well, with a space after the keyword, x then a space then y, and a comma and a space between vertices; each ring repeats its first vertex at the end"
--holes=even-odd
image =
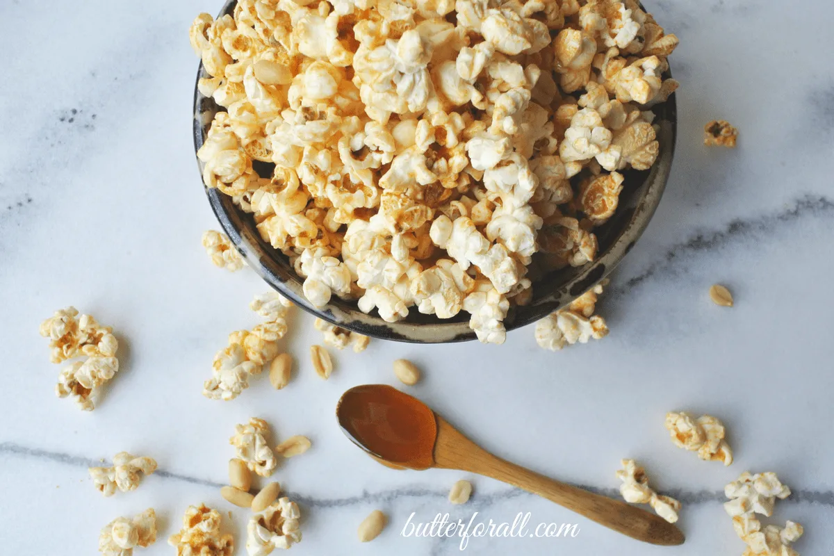
POLYGON ((336 417, 359 448, 412 469, 430 468, 435 459, 437 422, 425 403, 384 384, 350 388, 336 417))

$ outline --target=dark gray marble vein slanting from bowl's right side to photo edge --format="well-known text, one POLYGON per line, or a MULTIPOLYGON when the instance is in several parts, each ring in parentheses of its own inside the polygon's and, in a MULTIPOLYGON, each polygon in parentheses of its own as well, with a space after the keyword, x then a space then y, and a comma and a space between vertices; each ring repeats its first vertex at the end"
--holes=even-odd
POLYGON ((686 255, 690 253, 715 250, 750 236, 765 236, 806 216, 831 218, 834 216, 834 201, 823 195, 809 194, 797 199, 791 208, 786 208, 779 213, 766 214, 749 220, 736 219, 723 229, 698 233, 686 242, 672 245, 660 260, 651 263, 642 273, 628 278, 625 283, 616 285, 610 291, 617 295, 628 293, 650 278, 674 272, 676 266, 685 261, 686 255))

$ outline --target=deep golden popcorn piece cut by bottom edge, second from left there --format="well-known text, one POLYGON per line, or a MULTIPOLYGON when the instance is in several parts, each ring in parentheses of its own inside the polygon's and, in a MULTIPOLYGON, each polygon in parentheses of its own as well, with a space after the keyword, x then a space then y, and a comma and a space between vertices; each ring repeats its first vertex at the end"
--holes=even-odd
POLYGON ((188 506, 183 515, 183 528, 168 537, 168 544, 177 548, 177 556, 232 556, 234 538, 220 533, 222 517, 205 504, 188 506))

